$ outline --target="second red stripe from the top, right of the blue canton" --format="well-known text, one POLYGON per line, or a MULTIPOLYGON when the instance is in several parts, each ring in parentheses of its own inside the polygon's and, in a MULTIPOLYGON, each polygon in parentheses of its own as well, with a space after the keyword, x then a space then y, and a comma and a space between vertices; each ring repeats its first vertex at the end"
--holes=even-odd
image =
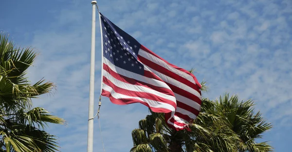
POLYGON ((150 60, 148 60, 147 58, 145 57, 142 57, 140 55, 138 55, 138 58, 140 59, 140 61, 147 65, 148 67, 150 67, 151 69, 165 75, 165 76, 169 76, 179 82, 182 82, 183 84, 197 90, 199 92, 199 88, 196 84, 194 84, 193 82, 187 80, 186 78, 182 77, 182 76, 179 76, 171 71, 169 71, 168 69, 164 68, 163 66, 159 65, 159 64, 156 64, 150 60))

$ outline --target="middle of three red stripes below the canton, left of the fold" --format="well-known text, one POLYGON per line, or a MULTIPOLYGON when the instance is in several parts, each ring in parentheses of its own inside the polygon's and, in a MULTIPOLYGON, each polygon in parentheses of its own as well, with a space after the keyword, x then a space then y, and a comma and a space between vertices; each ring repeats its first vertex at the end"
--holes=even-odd
POLYGON ((114 90, 114 92, 116 92, 118 94, 134 96, 134 97, 142 97, 142 98, 146 98, 146 99, 150 99, 150 100, 154 100, 154 101, 158 101, 158 102, 162 102, 162 103, 167 103, 167 104, 173 106, 174 108, 176 108, 176 103, 171 101, 171 100, 169 100, 169 99, 165 99, 163 97, 160 97, 158 95, 154 95, 154 94, 151 94, 151 93, 130 91, 130 90, 127 90, 127 89, 124 89, 124 88, 120 88, 120 87, 114 85, 105 76, 103 76, 103 82, 106 85, 110 86, 114 90))

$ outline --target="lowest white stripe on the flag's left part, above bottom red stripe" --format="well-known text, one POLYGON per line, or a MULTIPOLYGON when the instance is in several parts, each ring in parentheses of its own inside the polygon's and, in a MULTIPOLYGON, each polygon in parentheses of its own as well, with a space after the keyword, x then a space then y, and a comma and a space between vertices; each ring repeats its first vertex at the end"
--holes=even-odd
POLYGON ((172 112, 175 111, 175 108, 172 105, 167 104, 167 103, 163 103, 163 102, 159 102, 159 101, 155 101, 155 100, 150 100, 147 98, 137 97, 137 96, 128 96, 128 95, 116 93, 110 86, 108 86, 105 83, 103 83, 103 90, 110 92, 111 96, 116 98, 116 99, 134 98, 134 99, 140 100, 142 102, 148 103, 148 105, 150 107, 153 107, 153 108, 168 109, 172 112))

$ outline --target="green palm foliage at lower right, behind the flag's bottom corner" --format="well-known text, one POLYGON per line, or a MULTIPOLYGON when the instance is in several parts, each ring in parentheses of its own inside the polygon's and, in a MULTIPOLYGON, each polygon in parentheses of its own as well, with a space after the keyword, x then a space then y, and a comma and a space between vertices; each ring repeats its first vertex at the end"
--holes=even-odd
MULTIPOLYGON (((204 83, 202 86, 205 86, 204 83)), ((271 152, 266 142, 256 143, 271 129, 260 113, 254 115, 253 102, 239 102, 228 94, 220 100, 203 99, 201 113, 189 125, 190 131, 174 131, 166 125, 164 114, 153 113, 139 121, 132 131, 130 152, 271 152)))

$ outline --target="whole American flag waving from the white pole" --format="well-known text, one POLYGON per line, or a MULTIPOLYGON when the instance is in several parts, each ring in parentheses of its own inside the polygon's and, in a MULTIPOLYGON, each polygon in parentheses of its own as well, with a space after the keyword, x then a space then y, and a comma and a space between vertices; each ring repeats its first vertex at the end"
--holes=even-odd
MULTIPOLYGON (((100 13, 100 12, 99 12, 100 13)), ((201 109, 201 84, 168 63, 100 13, 103 39, 102 95, 114 104, 142 103, 184 129, 201 109)))

